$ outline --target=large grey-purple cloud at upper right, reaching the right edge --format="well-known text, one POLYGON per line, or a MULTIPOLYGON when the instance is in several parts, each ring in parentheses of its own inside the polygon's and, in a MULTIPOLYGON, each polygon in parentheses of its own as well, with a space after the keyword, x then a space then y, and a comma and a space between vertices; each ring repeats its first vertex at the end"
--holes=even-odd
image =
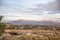
POLYGON ((30 8, 32 12, 42 13, 47 11, 48 14, 56 14, 60 13, 60 0, 50 2, 48 4, 36 4, 35 8, 30 8), (50 12, 49 12, 50 11, 50 12))

